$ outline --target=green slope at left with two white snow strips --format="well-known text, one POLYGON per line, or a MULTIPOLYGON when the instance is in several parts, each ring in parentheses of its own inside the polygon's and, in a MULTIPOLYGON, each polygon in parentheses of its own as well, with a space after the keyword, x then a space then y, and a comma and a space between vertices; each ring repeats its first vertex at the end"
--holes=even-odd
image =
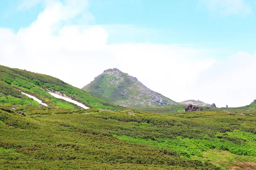
POLYGON ((21 94, 21 91, 35 96, 49 107, 80 109, 79 106, 57 99, 47 92, 55 91, 65 94, 89 108, 122 109, 120 106, 73 87, 60 79, 0 65, 0 106, 23 108, 28 104, 39 105, 38 102, 21 94))

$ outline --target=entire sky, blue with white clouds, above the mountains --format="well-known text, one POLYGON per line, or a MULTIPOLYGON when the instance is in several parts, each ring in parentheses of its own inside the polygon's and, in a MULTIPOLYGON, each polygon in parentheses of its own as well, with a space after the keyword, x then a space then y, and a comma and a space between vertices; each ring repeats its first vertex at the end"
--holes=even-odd
POLYGON ((256 99, 256 0, 1 0, 0 65, 82 88, 108 68, 181 102, 256 99))

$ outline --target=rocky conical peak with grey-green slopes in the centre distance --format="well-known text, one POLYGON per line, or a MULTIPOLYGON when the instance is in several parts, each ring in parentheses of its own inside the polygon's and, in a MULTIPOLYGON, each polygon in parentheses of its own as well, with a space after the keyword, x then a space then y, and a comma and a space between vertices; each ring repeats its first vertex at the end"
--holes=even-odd
POLYGON ((178 105, 177 102, 150 90, 136 77, 129 76, 116 68, 105 70, 82 89, 123 107, 178 105))

